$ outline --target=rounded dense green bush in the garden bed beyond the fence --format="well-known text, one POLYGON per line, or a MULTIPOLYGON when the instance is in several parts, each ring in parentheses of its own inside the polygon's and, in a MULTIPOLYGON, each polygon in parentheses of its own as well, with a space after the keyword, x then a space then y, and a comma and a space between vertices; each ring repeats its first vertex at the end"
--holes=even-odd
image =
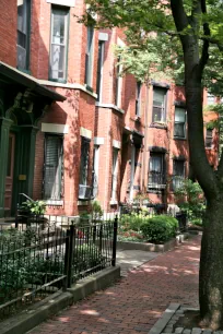
POLYGON ((141 225, 143 237, 153 243, 163 243, 176 236, 178 222, 174 217, 160 215, 141 225))

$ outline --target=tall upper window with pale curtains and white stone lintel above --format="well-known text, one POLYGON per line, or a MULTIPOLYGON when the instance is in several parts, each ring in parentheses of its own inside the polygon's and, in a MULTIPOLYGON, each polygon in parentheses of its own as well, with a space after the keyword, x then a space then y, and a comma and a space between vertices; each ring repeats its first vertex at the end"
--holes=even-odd
POLYGON ((55 81, 67 79, 68 16, 68 10, 52 7, 49 77, 55 81))

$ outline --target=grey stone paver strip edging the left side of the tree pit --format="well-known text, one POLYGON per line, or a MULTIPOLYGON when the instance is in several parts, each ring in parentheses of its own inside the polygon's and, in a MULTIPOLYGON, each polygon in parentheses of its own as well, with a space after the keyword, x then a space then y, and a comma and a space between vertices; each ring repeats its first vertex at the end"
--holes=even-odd
POLYGON ((176 311, 180 308, 180 303, 172 302, 168 308, 162 314, 162 317, 156 321, 154 326, 150 330, 149 334, 161 334, 163 330, 166 327, 167 323, 172 319, 172 317, 176 313, 176 311))

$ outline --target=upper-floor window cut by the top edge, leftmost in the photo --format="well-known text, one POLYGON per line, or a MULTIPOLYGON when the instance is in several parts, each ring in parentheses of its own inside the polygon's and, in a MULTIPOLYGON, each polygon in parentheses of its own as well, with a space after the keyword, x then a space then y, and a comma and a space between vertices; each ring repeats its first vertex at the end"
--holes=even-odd
POLYGON ((30 53, 30 0, 17 0, 17 68, 28 70, 30 53))

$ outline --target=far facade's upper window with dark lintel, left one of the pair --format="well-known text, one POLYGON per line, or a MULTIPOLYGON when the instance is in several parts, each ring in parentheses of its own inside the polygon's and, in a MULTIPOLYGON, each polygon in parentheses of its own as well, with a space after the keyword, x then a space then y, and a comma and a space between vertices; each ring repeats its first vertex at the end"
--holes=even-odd
POLYGON ((166 94, 164 88, 153 90, 153 122, 165 122, 166 120, 166 94))

